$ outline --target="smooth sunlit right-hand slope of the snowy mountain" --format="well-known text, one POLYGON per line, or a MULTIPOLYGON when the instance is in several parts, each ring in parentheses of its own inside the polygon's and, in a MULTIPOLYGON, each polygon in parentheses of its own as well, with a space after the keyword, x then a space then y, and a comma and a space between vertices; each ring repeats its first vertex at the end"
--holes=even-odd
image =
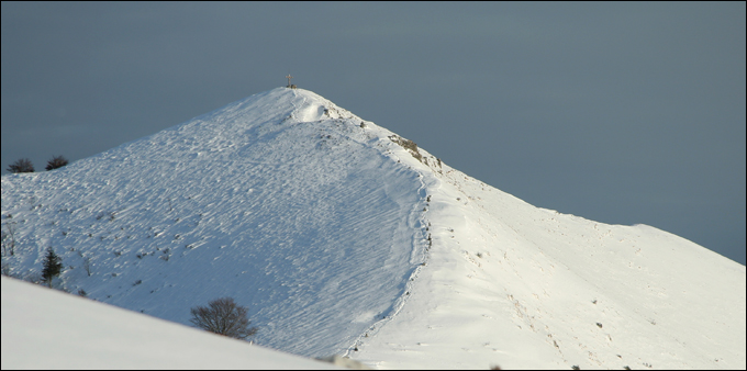
POLYGON ((408 304, 350 352, 383 369, 744 369, 745 266, 646 226, 423 170, 431 248, 408 304))

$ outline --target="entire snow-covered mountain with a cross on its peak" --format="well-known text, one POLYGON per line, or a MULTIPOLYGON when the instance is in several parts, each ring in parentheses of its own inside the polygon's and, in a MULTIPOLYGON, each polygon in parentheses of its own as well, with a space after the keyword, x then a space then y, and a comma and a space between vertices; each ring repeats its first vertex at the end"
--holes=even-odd
MULTIPOLYGON (((529 205, 306 90, 278 88, 44 173, 2 177, 3 271, 378 368, 745 368, 745 267, 645 225, 529 205)), ((4 300, 4 297, 3 297, 4 300)))

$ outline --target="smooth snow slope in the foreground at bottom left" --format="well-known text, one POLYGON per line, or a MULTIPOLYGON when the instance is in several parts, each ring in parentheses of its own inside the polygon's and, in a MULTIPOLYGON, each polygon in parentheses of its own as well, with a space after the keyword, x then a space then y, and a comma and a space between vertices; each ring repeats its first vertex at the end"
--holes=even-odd
POLYGON ((3 370, 338 370, 19 280, 0 282, 3 370))

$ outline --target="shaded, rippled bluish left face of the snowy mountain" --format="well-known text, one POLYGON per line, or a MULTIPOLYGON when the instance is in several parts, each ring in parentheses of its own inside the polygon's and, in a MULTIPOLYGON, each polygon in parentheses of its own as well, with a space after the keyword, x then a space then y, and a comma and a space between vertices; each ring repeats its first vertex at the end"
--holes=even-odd
POLYGON ((339 353, 422 262, 420 176, 388 157, 390 132, 361 122, 280 88, 56 171, 3 176, 19 240, 8 261, 29 276, 52 246, 74 292, 182 324, 232 296, 258 344, 339 353))

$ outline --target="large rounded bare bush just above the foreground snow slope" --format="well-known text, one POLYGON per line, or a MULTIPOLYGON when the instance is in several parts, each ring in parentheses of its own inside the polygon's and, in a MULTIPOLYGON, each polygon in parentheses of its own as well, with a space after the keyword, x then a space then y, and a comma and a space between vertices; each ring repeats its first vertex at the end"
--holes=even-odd
POLYGON ((190 310, 190 322, 202 329, 236 339, 246 339, 257 333, 257 327, 249 327, 247 308, 234 302, 233 297, 221 297, 208 306, 196 306, 190 310))

